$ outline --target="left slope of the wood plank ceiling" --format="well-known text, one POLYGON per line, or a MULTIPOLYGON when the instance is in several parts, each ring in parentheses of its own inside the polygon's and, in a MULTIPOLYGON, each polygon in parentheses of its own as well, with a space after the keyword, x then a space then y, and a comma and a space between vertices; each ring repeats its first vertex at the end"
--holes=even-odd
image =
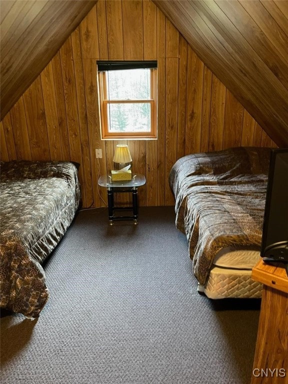
POLYGON ((0 119, 95 3, 95 0, 0 1, 0 119))

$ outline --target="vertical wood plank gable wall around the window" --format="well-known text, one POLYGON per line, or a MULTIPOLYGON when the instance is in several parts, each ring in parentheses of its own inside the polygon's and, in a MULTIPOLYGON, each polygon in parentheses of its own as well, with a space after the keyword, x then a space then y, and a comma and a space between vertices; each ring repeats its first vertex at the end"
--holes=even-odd
POLYGON ((275 146, 153 2, 99 0, 0 122, 2 160, 81 164, 84 207, 106 203, 97 177, 119 143, 100 139, 96 59, 158 61, 158 139, 125 141, 133 171, 146 176, 140 205, 174 204, 168 174, 185 154, 275 146))

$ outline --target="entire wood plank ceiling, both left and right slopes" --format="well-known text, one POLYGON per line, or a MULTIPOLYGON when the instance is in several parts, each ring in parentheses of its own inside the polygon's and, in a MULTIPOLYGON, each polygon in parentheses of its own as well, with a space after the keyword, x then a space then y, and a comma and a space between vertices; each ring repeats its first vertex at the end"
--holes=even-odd
MULTIPOLYGON (((0 1, 0 119, 96 2, 0 1)), ((288 146, 288 1, 153 2, 267 134, 288 146)))

